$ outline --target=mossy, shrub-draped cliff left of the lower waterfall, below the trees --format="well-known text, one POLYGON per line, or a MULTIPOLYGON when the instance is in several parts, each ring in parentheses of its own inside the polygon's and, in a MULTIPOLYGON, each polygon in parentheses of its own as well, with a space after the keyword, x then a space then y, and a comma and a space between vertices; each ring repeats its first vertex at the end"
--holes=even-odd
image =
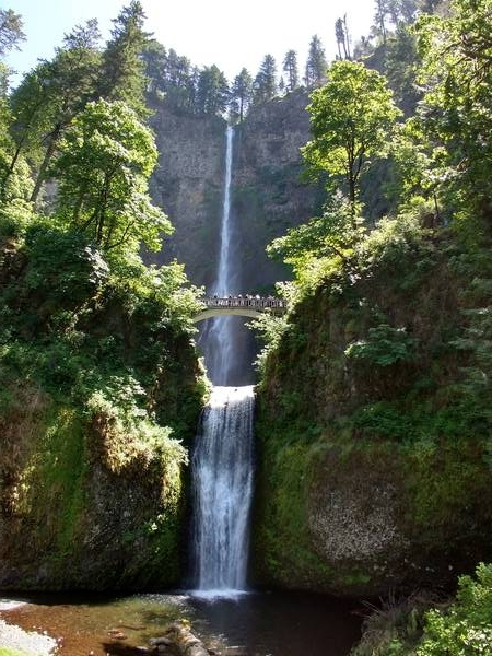
POLYGON ((195 434, 201 372, 185 325, 130 269, 112 281, 77 233, 0 241, 0 589, 183 577, 176 438, 195 434))

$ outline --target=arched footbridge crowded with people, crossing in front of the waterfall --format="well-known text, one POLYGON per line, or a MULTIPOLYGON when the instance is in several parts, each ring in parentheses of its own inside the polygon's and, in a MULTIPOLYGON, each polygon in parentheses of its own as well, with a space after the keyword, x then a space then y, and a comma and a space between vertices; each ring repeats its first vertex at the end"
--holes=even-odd
POLYGON ((266 312, 276 316, 286 312, 286 302, 274 296, 207 296, 200 301, 206 307, 195 315, 195 324, 223 315, 254 318, 266 312))

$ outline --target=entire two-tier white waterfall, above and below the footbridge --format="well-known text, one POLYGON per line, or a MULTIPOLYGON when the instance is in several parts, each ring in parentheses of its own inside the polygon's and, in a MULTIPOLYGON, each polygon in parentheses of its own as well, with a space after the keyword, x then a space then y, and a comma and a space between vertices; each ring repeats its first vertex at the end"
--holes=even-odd
MULTIPOLYGON (((213 293, 235 294, 231 178, 234 129, 227 127, 221 246, 213 293)), ((203 352, 214 385, 203 410, 191 458, 192 563, 196 594, 244 590, 253 494, 253 386, 231 385, 237 317, 218 317, 203 336, 203 352)))

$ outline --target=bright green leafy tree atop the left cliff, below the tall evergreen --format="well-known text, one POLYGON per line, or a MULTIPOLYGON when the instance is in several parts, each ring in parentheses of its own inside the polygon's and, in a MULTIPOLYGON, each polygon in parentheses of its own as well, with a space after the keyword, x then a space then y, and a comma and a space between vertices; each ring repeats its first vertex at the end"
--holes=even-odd
POLYGON ((107 251, 157 250, 171 224, 148 196, 157 153, 152 133, 121 102, 90 103, 73 121, 52 175, 58 215, 107 251))

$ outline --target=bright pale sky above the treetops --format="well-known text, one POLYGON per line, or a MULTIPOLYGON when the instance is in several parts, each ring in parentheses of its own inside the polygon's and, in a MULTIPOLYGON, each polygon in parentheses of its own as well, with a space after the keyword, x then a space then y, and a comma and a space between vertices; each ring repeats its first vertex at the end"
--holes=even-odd
MULTIPOLYGON (((255 75, 267 52, 273 55, 279 72, 285 52, 297 51, 304 69, 309 40, 321 39, 328 60, 335 58, 335 21, 347 13, 355 43, 367 35, 374 0, 141 0, 147 14, 145 30, 167 49, 188 57, 198 67, 215 63, 230 81, 246 67, 255 75), (293 9, 295 7, 295 9, 293 9)), ((96 17, 103 39, 109 37, 112 19, 129 0, 0 0, 24 21, 26 40, 12 52, 8 63, 17 71, 13 82, 50 59, 63 34, 96 17)))

